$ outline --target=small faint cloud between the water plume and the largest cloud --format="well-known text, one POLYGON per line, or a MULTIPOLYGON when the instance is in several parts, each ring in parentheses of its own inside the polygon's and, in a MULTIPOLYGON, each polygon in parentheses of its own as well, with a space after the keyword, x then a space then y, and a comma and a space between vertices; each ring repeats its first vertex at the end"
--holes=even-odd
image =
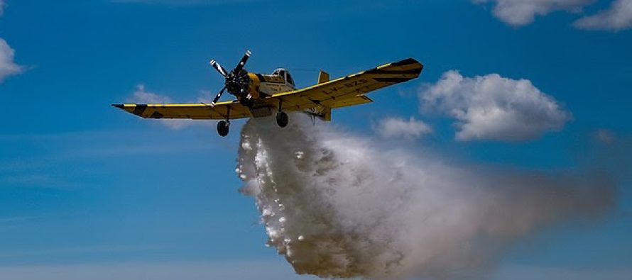
POLYGON ((403 118, 383 118, 373 130, 382 138, 417 139, 423 135, 432 133, 432 128, 423 121, 410 117, 408 121, 403 118))

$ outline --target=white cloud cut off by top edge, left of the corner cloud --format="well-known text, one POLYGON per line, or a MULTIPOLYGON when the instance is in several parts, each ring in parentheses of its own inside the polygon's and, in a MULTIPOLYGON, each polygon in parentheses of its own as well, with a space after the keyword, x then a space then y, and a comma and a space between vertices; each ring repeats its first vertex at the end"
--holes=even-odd
POLYGON ((581 11, 594 0, 472 0, 475 4, 494 2, 494 16, 511 26, 525 26, 535 16, 545 16, 552 11, 581 11))

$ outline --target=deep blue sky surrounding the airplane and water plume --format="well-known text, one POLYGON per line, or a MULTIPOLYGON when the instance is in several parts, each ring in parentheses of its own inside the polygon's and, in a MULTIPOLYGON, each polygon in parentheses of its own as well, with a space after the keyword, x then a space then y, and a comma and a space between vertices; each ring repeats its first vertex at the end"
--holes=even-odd
POLYGON ((55 269, 95 278, 114 268, 119 279, 148 271, 217 279, 256 267, 239 277, 309 279, 263 246, 254 201, 237 192, 244 121, 220 138, 214 123, 174 130, 109 106, 134 99, 139 85, 173 101, 208 98, 223 82, 208 61, 229 67, 248 48, 247 69, 295 69, 298 86, 317 78, 300 69, 339 77, 405 57, 423 62, 419 79, 334 112, 342 130, 474 164, 608 169, 619 187, 615 213, 526 237, 490 277, 628 279, 632 8, 624 8, 632 4, 474 2, 4 0, 0 278, 55 269), (459 89, 439 89, 454 82, 446 73, 463 79, 459 89), (531 87, 516 86, 521 79, 531 87), (481 81, 504 81, 493 88, 501 96, 526 96, 503 119, 515 125, 474 116, 506 101, 477 91, 481 81), (540 125, 530 123, 535 115, 545 116, 540 125), (385 132, 386 120, 408 130, 385 132), (459 138, 465 128, 477 136, 459 138))

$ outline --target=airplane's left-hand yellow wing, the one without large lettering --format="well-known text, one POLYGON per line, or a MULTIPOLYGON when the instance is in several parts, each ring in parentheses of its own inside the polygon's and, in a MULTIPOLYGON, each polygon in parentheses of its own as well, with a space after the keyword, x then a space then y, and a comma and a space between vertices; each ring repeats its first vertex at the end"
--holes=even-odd
POLYGON ((225 120, 250 117, 250 111, 239 101, 218 102, 215 106, 192 104, 113 104, 143 118, 189 118, 193 120, 225 120))

